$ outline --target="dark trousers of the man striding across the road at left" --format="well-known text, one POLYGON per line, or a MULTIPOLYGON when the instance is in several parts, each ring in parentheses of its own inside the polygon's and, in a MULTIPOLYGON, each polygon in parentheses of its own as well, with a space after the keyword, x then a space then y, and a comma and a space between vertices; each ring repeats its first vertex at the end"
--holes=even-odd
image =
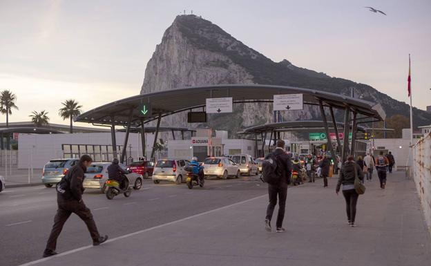
POLYGON ((84 202, 79 203, 76 200, 58 202, 57 214, 54 217, 54 225, 52 226, 48 243, 46 243, 46 249, 55 250, 57 248, 57 238, 61 233, 61 229, 63 229, 64 223, 72 213, 75 213, 86 223, 93 241, 99 239, 99 231, 97 231, 95 221, 93 220, 93 214, 91 214, 90 209, 86 207, 84 202))

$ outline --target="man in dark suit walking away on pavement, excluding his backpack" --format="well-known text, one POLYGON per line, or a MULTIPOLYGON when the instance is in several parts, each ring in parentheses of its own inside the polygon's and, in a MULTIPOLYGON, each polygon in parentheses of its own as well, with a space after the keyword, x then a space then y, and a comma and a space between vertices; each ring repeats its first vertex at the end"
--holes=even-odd
MULTIPOLYGON (((285 141, 277 140, 277 148, 270 155, 276 158, 277 168, 280 167, 280 178, 278 180, 278 184, 268 184, 269 205, 267 207, 267 216, 265 218, 265 229, 269 232, 271 231, 271 219, 272 214, 274 213, 274 208, 277 205, 278 196, 279 202, 276 231, 284 232, 286 229, 282 227, 282 221, 285 218, 287 184, 289 184, 292 171, 291 158, 285 153, 285 141)), ((265 159, 268 159, 270 155, 267 155, 265 159)))

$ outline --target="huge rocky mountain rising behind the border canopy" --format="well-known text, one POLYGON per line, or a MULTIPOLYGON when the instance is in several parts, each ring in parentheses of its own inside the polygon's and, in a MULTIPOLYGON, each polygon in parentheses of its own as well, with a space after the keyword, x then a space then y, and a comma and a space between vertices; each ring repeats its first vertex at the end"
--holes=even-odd
MULTIPOLYGON (((211 84, 298 86, 344 95, 350 95, 354 88, 362 99, 381 103, 387 117, 409 115, 407 104, 371 86, 300 68, 286 59, 274 62, 211 21, 195 15, 180 15, 164 32, 162 42, 148 62, 141 93, 211 84)), ((283 120, 320 117, 316 107, 304 107, 302 111, 285 112, 283 120)), ((236 104, 232 114, 211 115, 207 126, 236 133, 247 126, 271 122, 271 110, 271 104, 236 104)), ((341 113, 338 116, 341 120, 341 113)), ((162 124, 187 126, 186 113, 165 117, 162 124)), ((414 124, 431 124, 431 115, 414 108, 414 124)))

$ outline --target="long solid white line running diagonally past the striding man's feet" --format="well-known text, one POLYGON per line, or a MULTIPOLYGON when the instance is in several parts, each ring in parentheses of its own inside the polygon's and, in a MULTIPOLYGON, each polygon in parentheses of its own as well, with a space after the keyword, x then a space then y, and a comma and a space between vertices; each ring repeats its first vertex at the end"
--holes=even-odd
MULTIPOLYGON (((146 233, 148 231, 153 231, 155 229, 159 229, 159 228, 166 227, 166 226, 169 226, 169 225, 174 225, 174 224, 176 224, 178 222, 184 222, 185 220, 190 220, 190 219, 193 219, 193 218, 196 218, 196 217, 199 217, 199 216, 204 216, 204 215, 207 215, 209 213, 213 213, 215 211, 221 211, 223 209, 229 209, 230 207, 233 207, 233 206, 236 206, 236 205, 241 205, 243 203, 246 203, 246 202, 249 202, 249 201, 252 201, 252 200, 257 200, 258 198, 263 198, 263 197, 267 197, 267 196, 268 196, 267 193, 265 193, 265 195, 262 195, 262 196, 258 196, 258 197, 255 197, 255 198, 250 198, 248 200, 243 200, 243 201, 240 201, 240 202, 236 202, 236 203, 233 203, 231 205, 226 205, 226 206, 223 206, 223 207, 220 207, 220 208, 217 208, 217 209, 212 209, 211 211, 204 211, 202 213, 198 213, 198 214, 195 214, 193 216, 182 218, 180 220, 174 220, 172 222, 166 222, 163 225, 157 225, 155 227, 143 229, 143 230, 140 230, 140 231, 135 231, 135 232, 133 232, 131 234, 126 234, 124 236, 117 236, 116 238, 111 238, 111 239, 107 240, 106 243, 114 242, 114 241, 117 241, 117 240, 120 240, 120 239, 123 239, 123 238, 128 238, 128 237, 131 237, 131 236, 136 236, 136 235, 143 234, 143 233, 146 233)), ((63 256, 66 256, 66 255, 69 255, 69 254, 74 254, 74 253, 77 253, 79 251, 90 249, 92 247, 93 247, 93 245, 79 247, 77 249, 72 249, 72 250, 69 250, 69 251, 66 251, 64 253, 61 253, 61 254, 58 254, 58 255, 55 255, 55 256, 51 256, 51 257, 48 257, 48 258, 40 258, 39 260, 33 260, 33 261, 30 261, 29 263, 24 263, 24 264, 21 264, 19 266, 36 265, 38 263, 43 263, 45 261, 52 260, 52 258, 59 258, 59 257, 63 257, 63 256)))

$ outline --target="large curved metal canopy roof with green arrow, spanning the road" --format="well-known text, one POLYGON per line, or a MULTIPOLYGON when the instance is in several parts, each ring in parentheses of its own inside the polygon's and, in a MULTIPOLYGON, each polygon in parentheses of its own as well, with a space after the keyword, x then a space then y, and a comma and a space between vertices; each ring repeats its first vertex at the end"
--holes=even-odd
POLYGON ((154 120, 159 114, 162 117, 189 111, 193 108, 202 108, 207 98, 233 97, 233 103, 245 102, 273 102, 274 95, 302 93, 304 104, 318 104, 323 101, 324 106, 334 108, 349 108, 366 117, 374 117, 376 120, 384 120, 385 112, 380 104, 368 102, 363 99, 355 99, 345 95, 326 93, 307 88, 272 85, 217 85, 196 86, 189 88, 177 88, 169 91, 159 91, 136 95, 94 108, 91 111, 75 117, 76 122, 88 122, 95 124, 111 124, 111 116, 115 116, 115 124, 126 125, 128 115, 133 109, 131 126, 140 124, 140 114, 137 108, 142 103, 151 103, 153 117, 146 117, 144 122, 154 120))

